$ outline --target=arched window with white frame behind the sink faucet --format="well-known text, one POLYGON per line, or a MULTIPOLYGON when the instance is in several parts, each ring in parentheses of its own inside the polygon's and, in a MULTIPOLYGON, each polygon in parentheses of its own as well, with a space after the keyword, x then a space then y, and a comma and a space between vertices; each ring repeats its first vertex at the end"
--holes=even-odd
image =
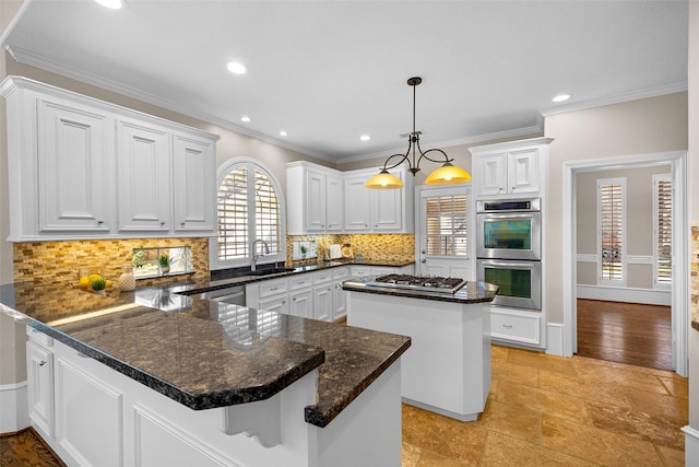
POLYGON ((218 170, 218 234, 210 243, 212 269, 284 261, 284 200, 279 184, 258 162, 232 159, 218 170), (252 244, 258 243, 256 252, 252 244))

